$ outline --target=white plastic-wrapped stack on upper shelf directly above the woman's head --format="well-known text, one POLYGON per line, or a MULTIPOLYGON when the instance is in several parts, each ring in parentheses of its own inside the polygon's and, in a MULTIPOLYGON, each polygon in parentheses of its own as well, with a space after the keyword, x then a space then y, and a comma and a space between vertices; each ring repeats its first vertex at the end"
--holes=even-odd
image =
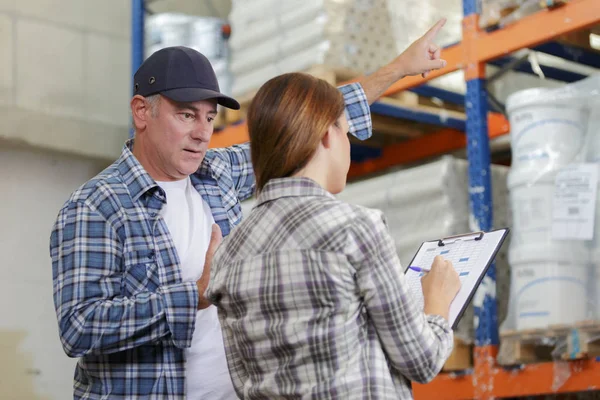
POLYGON ((369 73, 396 43, 387 0, 237 0, 232 4, 233 95, 313 65, 369 73))

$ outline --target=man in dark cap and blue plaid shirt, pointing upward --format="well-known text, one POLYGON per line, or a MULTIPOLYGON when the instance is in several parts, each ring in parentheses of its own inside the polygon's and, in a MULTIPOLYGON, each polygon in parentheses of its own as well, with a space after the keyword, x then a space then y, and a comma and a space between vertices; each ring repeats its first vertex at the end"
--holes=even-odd
MULTIPOLYGON (((445 65, 435 32, 340 88, 351 134, 371 135, 369 103, 393 82, 445 65)), ((60 338, 79 358, 74 398, 235 398, 204 291, 220 232, 254 190, 247 143, 208 149, 217 103, 239 104, 189 48, 154 53, 134 80, 135 139, 71 195, 50 238, 60 338)))

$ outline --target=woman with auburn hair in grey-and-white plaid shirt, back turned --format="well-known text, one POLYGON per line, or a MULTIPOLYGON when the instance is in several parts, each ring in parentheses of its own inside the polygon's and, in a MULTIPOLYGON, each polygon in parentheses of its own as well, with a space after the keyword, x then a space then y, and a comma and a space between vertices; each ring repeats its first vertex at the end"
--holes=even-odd
POLYGON ((453 344, 460 281, 437 258, 417 308, 380 211, 337 200, 350 166, 342 95, 291 73, 248 111, 258 199, 213 260, 229 371, 249 399, 406 399, 453 344))

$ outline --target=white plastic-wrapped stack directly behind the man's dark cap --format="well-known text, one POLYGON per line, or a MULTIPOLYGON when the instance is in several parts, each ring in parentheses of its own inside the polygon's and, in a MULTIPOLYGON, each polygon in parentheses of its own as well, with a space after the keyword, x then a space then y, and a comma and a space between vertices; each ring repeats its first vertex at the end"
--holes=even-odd
POLYGON ((170 46, 187 46, 204 54, 212 64, 219 88, 231 94, 229 48, 223 35, 227 22, 219 18, 195 17, 178 13, 162 13, 147 17, 145 55, 170 46))

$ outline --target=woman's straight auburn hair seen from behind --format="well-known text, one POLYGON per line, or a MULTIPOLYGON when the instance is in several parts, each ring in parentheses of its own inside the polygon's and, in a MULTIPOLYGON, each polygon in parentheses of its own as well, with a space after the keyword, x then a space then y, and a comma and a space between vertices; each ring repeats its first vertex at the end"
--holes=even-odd
POLYGON ((322 79, 296 72, 265 83, 248 109, 257 190, 302 169, 343 112, 341 92, 322 79))

